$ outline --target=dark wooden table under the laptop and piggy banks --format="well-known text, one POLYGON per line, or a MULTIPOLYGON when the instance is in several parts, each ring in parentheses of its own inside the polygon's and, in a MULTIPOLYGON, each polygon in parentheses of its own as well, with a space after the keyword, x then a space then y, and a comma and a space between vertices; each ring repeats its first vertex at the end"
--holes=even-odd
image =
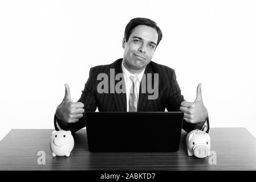
POLYGON ((69 158, 52 157, 51 131, 11 130, 0 142, 0 170, 256 170, 256 139, 245 128, 210 129, 217 164, 209 163, 212 156, 187 155, 185 131, 177 152, 92 153, 83 129, 74 134, 69 158), (38 164, 38 151, 45 152, 46 164, 38 164))

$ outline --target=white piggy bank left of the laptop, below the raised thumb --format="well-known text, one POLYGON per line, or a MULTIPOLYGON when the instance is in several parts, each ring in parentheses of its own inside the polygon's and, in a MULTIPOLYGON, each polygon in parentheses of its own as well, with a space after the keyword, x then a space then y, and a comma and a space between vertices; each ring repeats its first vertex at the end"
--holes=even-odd
POLYGON ((70 156, 74 148, 74 138, 71 131, 52 131, 50 149, 52 156, 70 156))

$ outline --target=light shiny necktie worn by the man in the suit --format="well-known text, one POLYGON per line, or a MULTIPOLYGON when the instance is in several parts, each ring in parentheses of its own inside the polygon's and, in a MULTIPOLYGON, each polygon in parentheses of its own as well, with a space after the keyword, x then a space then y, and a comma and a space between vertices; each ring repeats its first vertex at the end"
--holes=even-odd
POLYGON ((132 87, 130 89, 130 97, 129 97, 129 112, 137 111, 138 104, 138 91, 136 89, 136 82, 138 81, 137 76, 130 76, 132 80, 132 87))

